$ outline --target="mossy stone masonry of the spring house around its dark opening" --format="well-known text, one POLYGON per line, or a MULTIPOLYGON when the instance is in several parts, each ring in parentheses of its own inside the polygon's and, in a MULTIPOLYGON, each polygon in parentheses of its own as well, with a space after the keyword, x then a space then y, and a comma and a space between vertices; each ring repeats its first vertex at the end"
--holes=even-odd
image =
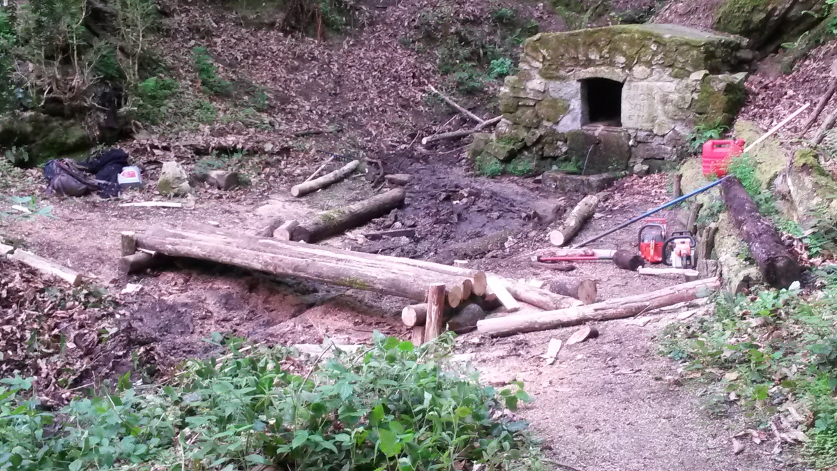
POLYGON ((682 157, 700 124, 730 123, 743 103, 745 40, 666 24, 621 25, 526 40, 501 90, 503 121, 475 139, 478 165, 533 171, 657 170, 682 157), (621 122, 589 122, 587 79, 622 85, 621 122), (615 125, 614 125, 615 124, 615 125))

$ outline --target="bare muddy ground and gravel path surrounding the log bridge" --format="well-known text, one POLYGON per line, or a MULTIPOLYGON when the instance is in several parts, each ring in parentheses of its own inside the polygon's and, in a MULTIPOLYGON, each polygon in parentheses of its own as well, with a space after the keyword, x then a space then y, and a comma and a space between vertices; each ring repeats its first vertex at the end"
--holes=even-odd
MULTIPOLYGON (((568 274, 531 267, 532 255, 550 252, 548 228, 537 225, 532 213, 544 214, 555 206, 572 208, 581 195, 552 194, 536 179, 475 176, 463 165, 461 150, 452 149, 454 152, 440 149, 376 156, 383 158, 388 173, 413 175, 406 204, 387 217, 323 243, 434 259, 449 255, 452 247, 501 233, 496 244, 467 256, 473 267, 545 282, 553 277, 593 277, 598 280, 601 299, 682 282, 678 277, 642 277, 619 271, 607 262, 578 264, 568 274), (362 237, 393 226, 414 227, 416 236, 383 241, 362 237)), ((151 154, 135 154, 151 162, 147 175, 154 179, 151 154)), ((130 350, 141 346, 164 374, 179 360, 213 351, 215 347, 203 341, 213 332, 270 344, 319 343, 325 337, 340 344, 356 344, 368 342, 374 330, 407 338, 408 329, 398 314, 408 302, 399 298, 202 261, 177 261, 129 277, 117 272, 122 230, 152 225, 195 227, 214 221, 222 228, 253 233, 275 217, 304 217, 380 190, 358 174, 316 194, 291 197, 290 185, 305 179, 318 164, 297 163, 291 156, 286 162, 275 163, 281 171, 266 167, 252 187, 229 193, 198 187, 195 197, 181 199, 182 209, 119 206, 124 200, 160 199, 153 186, 127 194, 122 201, 96 196, 53 199, 49 203, 54 204, 57 219, 21 220, 6 225, 3 232, 7 239, 84 273, 90 282, 116 294, 124 317, 115 323, 126 348, 120 350, 121 360, 114 357, 110 365, 102 365, 116 372, 131 367, 126 361, 130 350), (141 289, 119 294, 129 283, 141 285, 141 289)), ((38 175, 31 171, 30 176, 28 189, 38 192, 38 175)), ((613 197, 579 238, 664 202, 668 176, 630 177, 610 191, 613 197)), ((680 227, 677 210, 661 216, 670 221, 671 229, 680 227)), ((635 250, 637 229, 620 231, 593 247, 635 250)), ((741 432, 743 425, 706 416, 700 399, 677 386, 677 365, 656 353, 655 334, 666 322, 676 321, 680 311, 651 314, 655 320, 645 325, 635 320, 598 325, 598 339, 567 347, 556 365, 544 365, 540 355, 549 339, 566 339, 570 330, 509 339, 465 334, 460 338, 460 349, 474 354, 471 361, 491 384, 525 381, 537 401, 522 414, 545 440, 547 454, 562 465, 584 470, 781 468, 772 449, 753 448, 737 456, 732 453, 731 437, 741 432)), ((78 380, 85 379, 89 380, 78 380)))

